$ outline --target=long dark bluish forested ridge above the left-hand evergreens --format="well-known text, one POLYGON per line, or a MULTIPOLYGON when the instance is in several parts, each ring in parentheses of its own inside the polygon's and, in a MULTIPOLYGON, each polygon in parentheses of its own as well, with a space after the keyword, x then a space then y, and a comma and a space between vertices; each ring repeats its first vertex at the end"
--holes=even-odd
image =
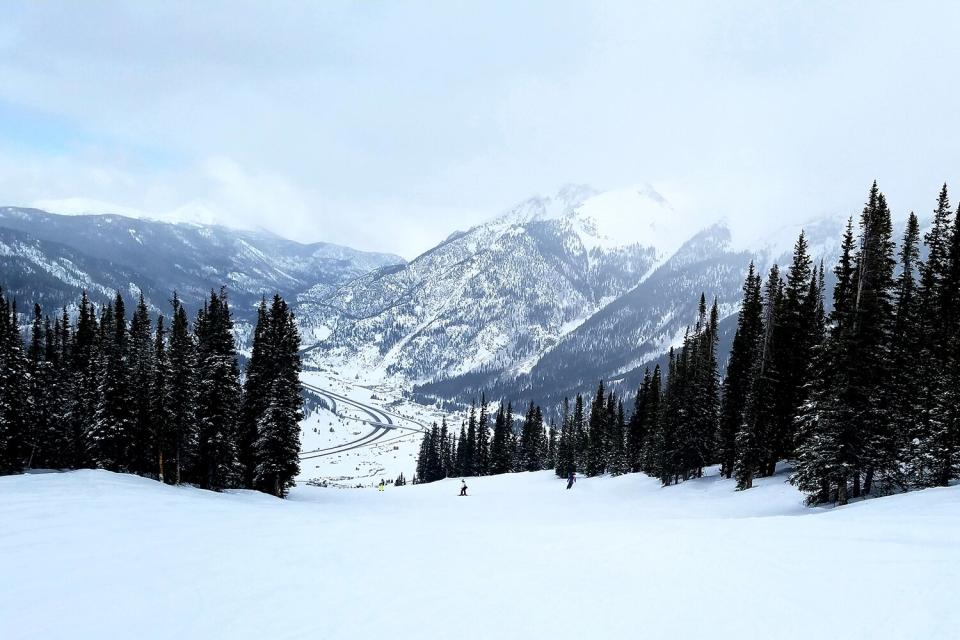
POLYGON ((74 304, 82 289, 102 302, 117 290, 138 295, 138 287, 155 310, 167 310, 174 290, 196 308, 212 287, 226 285, 244 319, 263 294, 293 297, 318 283, 336 285, 402 262, 266 232, 0 208, 0 285, 48 311, 74 304))

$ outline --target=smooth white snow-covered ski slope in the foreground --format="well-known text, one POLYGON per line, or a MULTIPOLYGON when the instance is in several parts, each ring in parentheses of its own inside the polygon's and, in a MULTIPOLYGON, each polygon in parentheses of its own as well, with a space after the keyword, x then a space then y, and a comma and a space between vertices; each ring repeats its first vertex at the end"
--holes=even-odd
POLYGON ((0 638, 956 638, 960 487, 549 472, 290 499, 0 478, 0 638))

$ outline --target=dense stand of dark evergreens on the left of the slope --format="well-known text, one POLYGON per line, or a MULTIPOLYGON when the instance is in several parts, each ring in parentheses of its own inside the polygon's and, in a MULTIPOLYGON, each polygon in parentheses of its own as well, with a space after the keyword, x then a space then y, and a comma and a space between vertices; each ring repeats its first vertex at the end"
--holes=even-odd
POLYGON ((293 313, 261 302, 241 383, 224 289, 191 323, 174 294, 157 322, 140 296, 74 318, 34 305, 26 343, 0 291, 0 474, 100 468, 283 497, 299 470, 300 337, 293 313))

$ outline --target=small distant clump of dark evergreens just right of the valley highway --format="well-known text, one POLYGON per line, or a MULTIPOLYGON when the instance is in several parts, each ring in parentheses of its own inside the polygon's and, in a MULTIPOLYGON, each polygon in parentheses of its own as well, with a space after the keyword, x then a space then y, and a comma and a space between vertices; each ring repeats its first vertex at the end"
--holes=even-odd
POLYGON ((491 429, 487 400, 482 397, 460 426, 459 435, 444 419, 424 434, 413 483, 434 482, 453 476, 483 476, 513 471, 542 471, 556 465, 557 430, 544 426, 540 407, 530 403, 523 427, 517 433, 513 405, 500 403, 491 429))

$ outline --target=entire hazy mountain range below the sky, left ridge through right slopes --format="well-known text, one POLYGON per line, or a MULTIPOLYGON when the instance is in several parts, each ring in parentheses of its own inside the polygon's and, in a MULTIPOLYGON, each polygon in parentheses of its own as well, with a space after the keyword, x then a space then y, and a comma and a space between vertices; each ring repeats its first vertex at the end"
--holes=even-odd
MULTIPOLYGON (((844 222, 805 225, 828 267, 844 222)), ((142 287, 164 312, 174 290, 195 308, 225 285, 240 334, 260 296, 277 291, 295 301, 309 364, 389 378, 421 398, 547 401, 601 377, 634 386, 682 339, 701 292, 730 318, 748 263, 783 262, 799 230, 749 242, 722 221, 679 215, 649 185, 569 185, 406 262, 266 232, 6 207, 0 285, 49 313, 81 289, 105 301, 142 287)))

